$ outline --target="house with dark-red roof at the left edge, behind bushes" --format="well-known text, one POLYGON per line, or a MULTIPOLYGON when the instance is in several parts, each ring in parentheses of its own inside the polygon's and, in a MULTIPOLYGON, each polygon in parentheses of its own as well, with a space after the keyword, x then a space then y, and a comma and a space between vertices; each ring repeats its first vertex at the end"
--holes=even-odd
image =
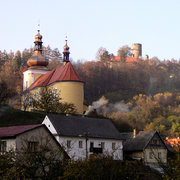
POLYGON ((48 128, 42 124, 0 127, 0 152, 36 152, 42 146, 53 148, 59 152, 58 158, 69 156, 60 146, 48 128))

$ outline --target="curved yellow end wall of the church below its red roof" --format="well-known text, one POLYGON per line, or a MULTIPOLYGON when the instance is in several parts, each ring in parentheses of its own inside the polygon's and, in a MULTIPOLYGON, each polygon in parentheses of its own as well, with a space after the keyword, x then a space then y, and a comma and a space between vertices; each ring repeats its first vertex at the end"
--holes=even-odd
POLYGON ((60 91, 62 102, 72 103, 75 105, 77 113, 83 114, 84 108, 84 83, 82 82, 56 82, 49 86, 60 91))

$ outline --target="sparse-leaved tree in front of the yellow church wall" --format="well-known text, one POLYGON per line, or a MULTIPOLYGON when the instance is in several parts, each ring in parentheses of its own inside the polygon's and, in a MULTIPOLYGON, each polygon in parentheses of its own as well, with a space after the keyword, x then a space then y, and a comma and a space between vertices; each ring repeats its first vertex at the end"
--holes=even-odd
POLYGON ((76 113, 74 104, 61 102, 61 100, 60 92, 54 93, 52 88, 43 87, 38 94, 27 94, 24 104, 33 110, 47 113, 76 113))

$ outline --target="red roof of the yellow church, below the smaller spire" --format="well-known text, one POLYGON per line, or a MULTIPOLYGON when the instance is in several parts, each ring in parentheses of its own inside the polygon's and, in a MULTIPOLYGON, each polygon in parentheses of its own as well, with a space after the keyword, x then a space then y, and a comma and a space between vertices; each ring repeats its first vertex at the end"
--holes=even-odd
POLYGON ((44 87, 60 81, 83 82, 83 80, 76 73, 72 64, 68 62, 66 65, 59 66, 56 69, 53 69, 50 72, 40 76, 28 89, 31 90, 36 87, 44 87))

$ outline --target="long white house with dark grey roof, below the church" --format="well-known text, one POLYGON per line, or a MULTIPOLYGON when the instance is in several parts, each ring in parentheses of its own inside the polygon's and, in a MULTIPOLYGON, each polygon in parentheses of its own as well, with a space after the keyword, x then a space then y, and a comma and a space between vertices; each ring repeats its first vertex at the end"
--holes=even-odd
POLYGON ((122 137, 109 119, 49 114, 42 123, 74 160, 98 153, 123 159, 122 137))

